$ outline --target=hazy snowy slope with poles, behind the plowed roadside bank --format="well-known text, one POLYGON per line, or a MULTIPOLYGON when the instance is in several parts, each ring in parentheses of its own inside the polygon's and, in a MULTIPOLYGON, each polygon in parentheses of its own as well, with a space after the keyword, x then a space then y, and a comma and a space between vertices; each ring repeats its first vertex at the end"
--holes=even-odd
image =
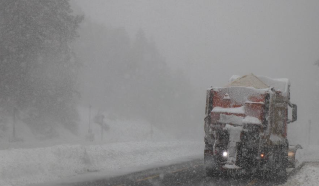
MULTIPOLYGON (((54 138, 45 139, 43 136, 30 130, 29 126, 21 121, 16 123, 15 133, 17 138, 21 141, 9 142, 12 138, 12 124, 6 124, 6 131, 0 130, 0 150, 10 148, 36 148, 48 147, 59 144, 92 144, 86 141, 86 136, 89 129, 89 108, 79 107, 80 122, 78 124, 78 131, 71 132, 66 130, 63 126, 54 128, 56 136, 54 138)), ((175 141, 176 138, 168 133, 162 131, 156 126, 152 126, 145 120, 123 120, 108 117, 107 113, 104 114, 104 124, 107 124, 108 130, 103 131, 101 136, 101 126, 93 122, 93 118, 97 115, 98 111, 91 110, 90 128, 94 134, 94 144, 105 144, 114 142, 128 142, 128 141, 175 141)), ((201 138, 200 138, 201 139, 201 138)))

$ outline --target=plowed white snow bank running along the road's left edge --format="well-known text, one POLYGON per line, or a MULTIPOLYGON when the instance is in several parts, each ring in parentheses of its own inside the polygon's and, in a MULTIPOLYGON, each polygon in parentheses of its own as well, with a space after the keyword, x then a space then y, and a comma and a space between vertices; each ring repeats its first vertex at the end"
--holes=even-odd
POLYGON ((123 142, 0 150, 0 186, 23 186, 88 171, 120 170, 203 155, 204 143, 123 142))

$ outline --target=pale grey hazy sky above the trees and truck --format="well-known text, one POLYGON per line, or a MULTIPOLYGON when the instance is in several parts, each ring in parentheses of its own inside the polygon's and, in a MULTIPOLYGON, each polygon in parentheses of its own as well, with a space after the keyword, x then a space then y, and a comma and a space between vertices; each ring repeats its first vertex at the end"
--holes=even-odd
POLYGON ((291 80, 299 124, 318 119, 318 0, 75 0, 87 17, 142 28, 203 98, 232 74, 291 80))

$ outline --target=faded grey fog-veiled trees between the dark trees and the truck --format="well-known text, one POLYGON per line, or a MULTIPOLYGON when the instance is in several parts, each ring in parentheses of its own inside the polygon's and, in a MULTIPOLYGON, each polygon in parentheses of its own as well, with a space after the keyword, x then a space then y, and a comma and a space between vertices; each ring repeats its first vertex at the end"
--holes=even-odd
POLYGON ((172 130, 194 124, 194 91, 189 81, 181 71, 169 69, 142 29, 132 39, 124 28, 86 19, 79 33, 75 49, 83 63, 81 95, 85 105, 121 119, 147 119, 172 130))

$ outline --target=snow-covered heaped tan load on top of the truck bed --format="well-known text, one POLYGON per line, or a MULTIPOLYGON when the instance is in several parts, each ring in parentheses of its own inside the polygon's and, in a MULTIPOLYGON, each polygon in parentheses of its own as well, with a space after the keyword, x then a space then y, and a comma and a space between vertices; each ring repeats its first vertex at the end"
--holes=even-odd
POLYGON ((281 91, 283 96, 287 96, 290 81, 287 78, 273 79, 266 76, 255 76, 251 73, 244 76, 233 75, 225 87, 232 86, 253 87, 256 89, 274 87, 275 90, 281 91))

